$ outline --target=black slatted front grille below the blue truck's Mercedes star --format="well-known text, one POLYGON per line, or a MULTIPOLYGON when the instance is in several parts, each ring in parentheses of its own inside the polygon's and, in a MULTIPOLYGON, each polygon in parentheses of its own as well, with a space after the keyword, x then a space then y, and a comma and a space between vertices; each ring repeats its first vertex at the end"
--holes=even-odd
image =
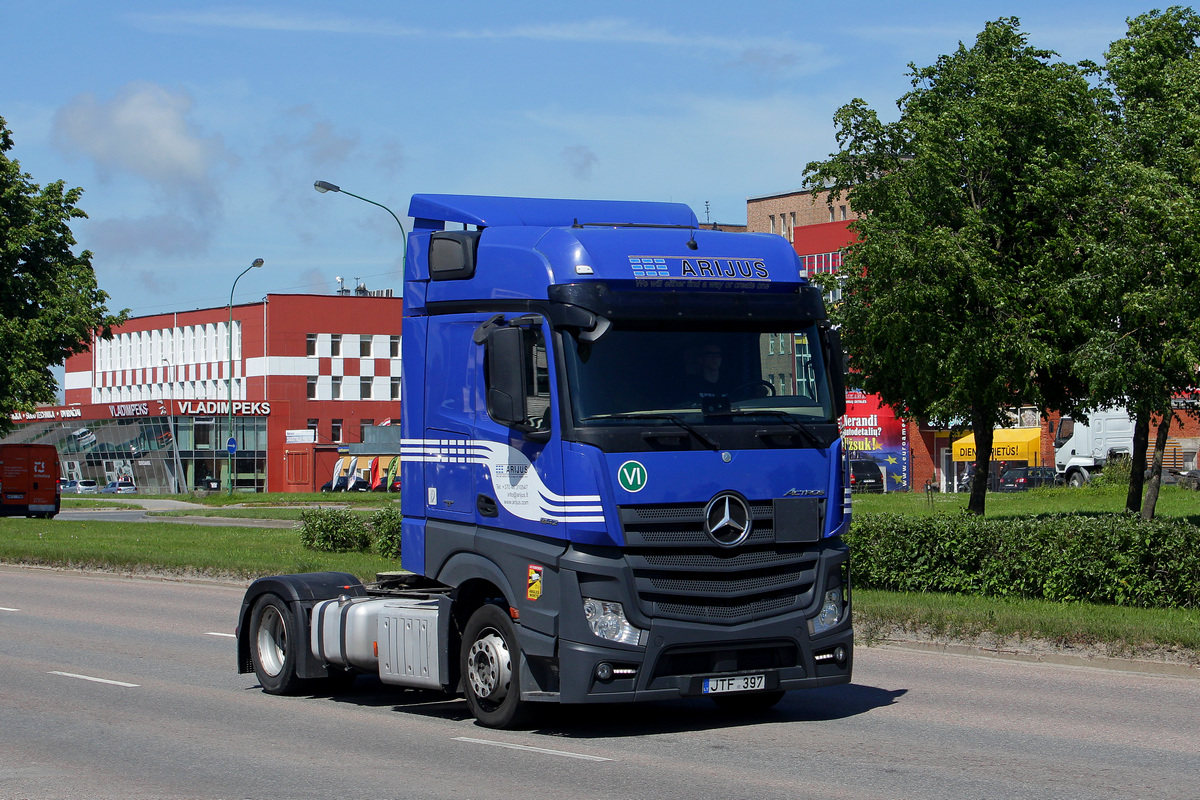
POLYGON ((623 506, 642 613, 736 625, 810 604, 817 546, 776 543, 773 511, 772 503, 751 503, 750 537, 725 549, 704 531, 703 504, 623 506))

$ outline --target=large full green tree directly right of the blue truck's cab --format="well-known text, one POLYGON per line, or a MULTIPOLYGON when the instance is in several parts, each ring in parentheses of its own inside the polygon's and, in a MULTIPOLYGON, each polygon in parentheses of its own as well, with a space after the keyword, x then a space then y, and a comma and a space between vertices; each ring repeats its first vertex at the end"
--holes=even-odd
MULTIPOLYGON (((1006 409, 1072 408, 1079 393, 1063 343, 1087 313, 1078 223, 1106 95, 1094 65, 1054 55, 1014 18, 988 23, 971 48, 910 65, 895 122, 862 100, 839 109, 840 152, 805 170, 860 215, 833 312, 848 367, 907 417, 967 420, 980 477, 1006 409)), ((972 482, 973 513, 985 491, 972 482)))

